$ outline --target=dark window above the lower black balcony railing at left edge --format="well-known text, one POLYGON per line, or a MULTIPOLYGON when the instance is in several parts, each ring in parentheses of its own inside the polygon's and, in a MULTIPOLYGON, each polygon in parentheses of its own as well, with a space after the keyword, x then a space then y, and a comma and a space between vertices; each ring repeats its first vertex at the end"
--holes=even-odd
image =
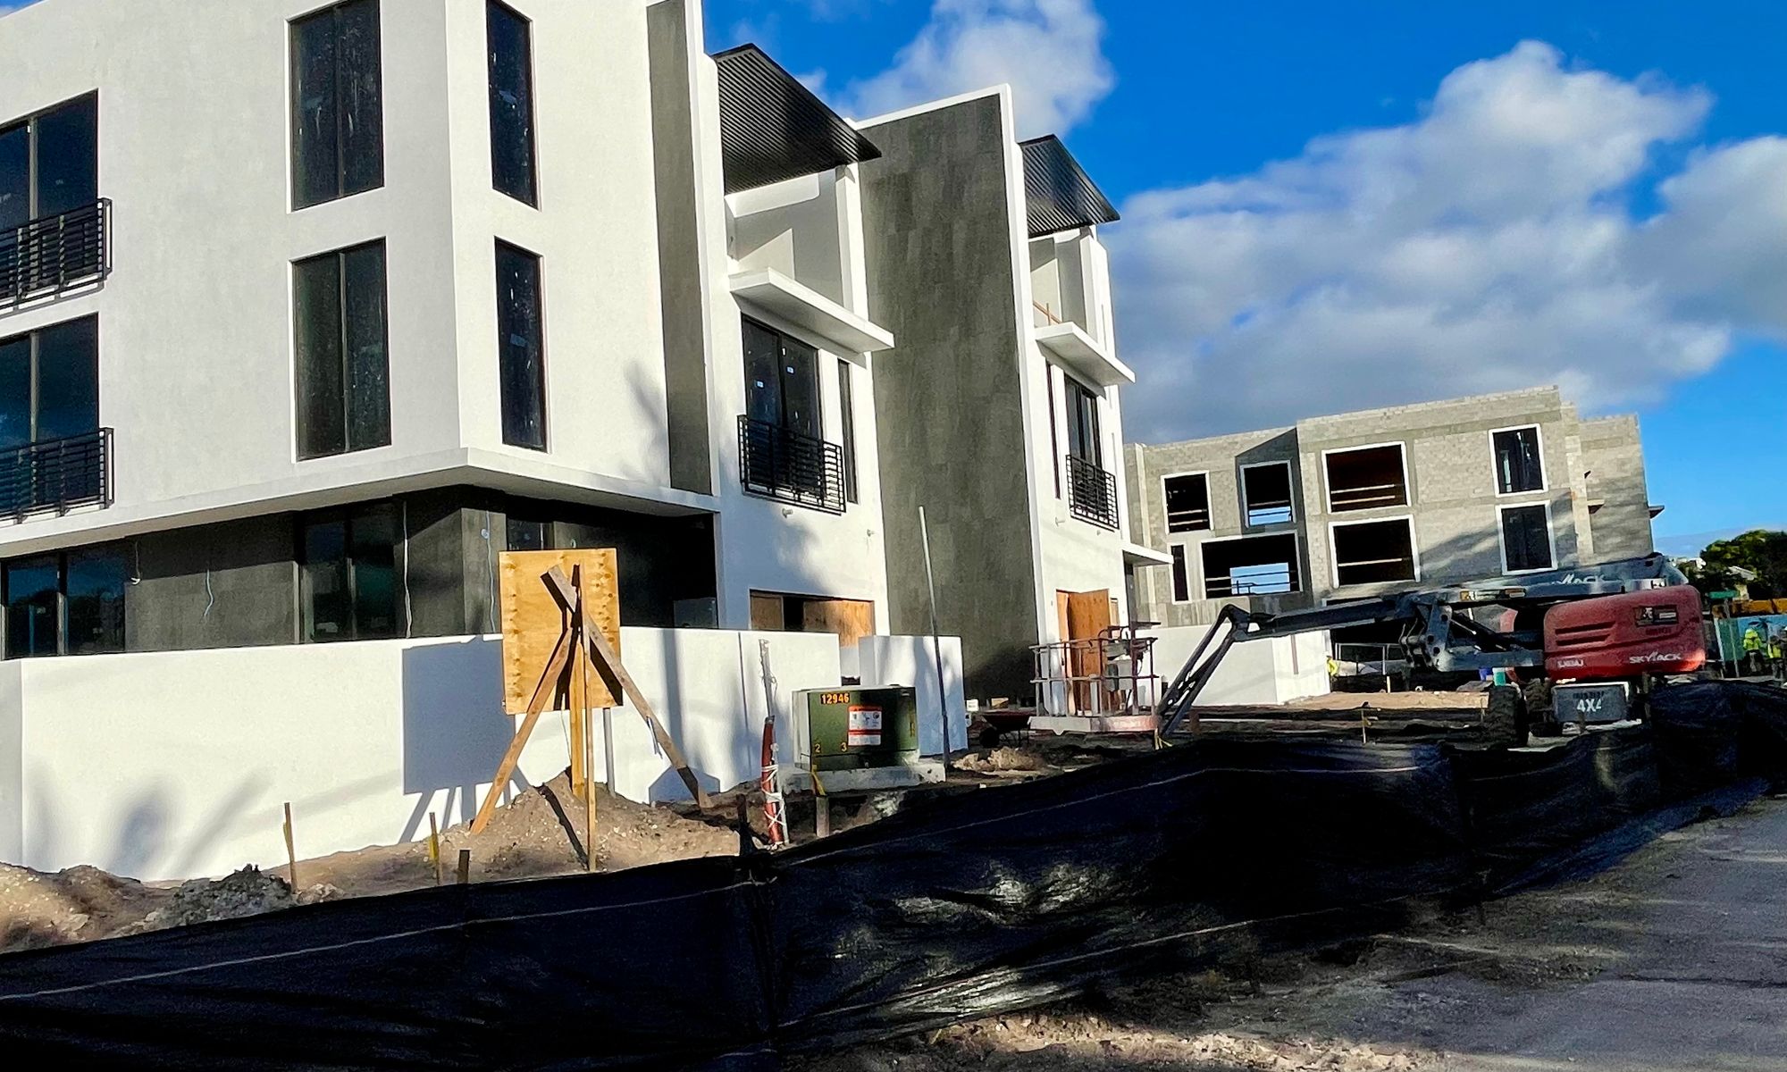
POLYGON ((0 341, 0 447, 100 427, 98 316, 0 341))

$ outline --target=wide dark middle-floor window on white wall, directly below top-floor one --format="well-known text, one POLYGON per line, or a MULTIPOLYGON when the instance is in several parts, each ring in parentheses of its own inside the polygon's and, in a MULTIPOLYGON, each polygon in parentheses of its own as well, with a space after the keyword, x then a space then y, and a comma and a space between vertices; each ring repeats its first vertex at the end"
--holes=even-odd
POLYGON ((291 266, 298 456, 391 445, 384 243, 291 266))

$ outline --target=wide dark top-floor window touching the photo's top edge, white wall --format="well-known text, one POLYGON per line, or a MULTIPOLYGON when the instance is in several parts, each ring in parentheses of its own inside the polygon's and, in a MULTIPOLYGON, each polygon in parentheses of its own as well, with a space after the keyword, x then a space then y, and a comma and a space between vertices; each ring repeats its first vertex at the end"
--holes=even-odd
POLYGON ((384 186, 379 0, 291 23, 291 202, 304 209, 384 186))

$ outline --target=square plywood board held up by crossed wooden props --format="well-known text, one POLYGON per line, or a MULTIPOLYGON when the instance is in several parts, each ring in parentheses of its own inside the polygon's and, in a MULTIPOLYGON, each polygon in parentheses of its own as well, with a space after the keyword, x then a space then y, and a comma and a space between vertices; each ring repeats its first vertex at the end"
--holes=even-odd
MULTIPOLYGON (((525 715, 540 674, 565 632, 568 615, 552 599, 545 574, 558 566, 570 577, 583 568, 583 599, 602 636, 620 652, 620 584, 611 547, 575 550, 506 550, 499 559, 502 595, 502 709, 525 715)), ((602 677, 590 679, 591 708, 618 708, 602 677)))

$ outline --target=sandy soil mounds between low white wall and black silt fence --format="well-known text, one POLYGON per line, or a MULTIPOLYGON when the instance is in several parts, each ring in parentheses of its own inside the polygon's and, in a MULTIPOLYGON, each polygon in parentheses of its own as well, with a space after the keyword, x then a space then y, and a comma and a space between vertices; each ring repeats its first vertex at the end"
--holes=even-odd
MULTIPOLYGON (((624 870, 692 856, 731 856, 738 834, 650 808, 597 786, 597 870, 624 870)), ((474 883, 534 879, 584 870, 583 800, 559 775, 499 808, 491 824, 441 831, 441 874, 456 881, 459 849, 472 850, 474 883)), ((93 867, 57 874, 0 865, 0 952, 93 942, 202 920, 234 918, 338 897, 372 897, 436 883, 425 842, 373 845, 298 861, 297 892, 286 868, 245 868, 218 881, 148 884, 93 867)))

